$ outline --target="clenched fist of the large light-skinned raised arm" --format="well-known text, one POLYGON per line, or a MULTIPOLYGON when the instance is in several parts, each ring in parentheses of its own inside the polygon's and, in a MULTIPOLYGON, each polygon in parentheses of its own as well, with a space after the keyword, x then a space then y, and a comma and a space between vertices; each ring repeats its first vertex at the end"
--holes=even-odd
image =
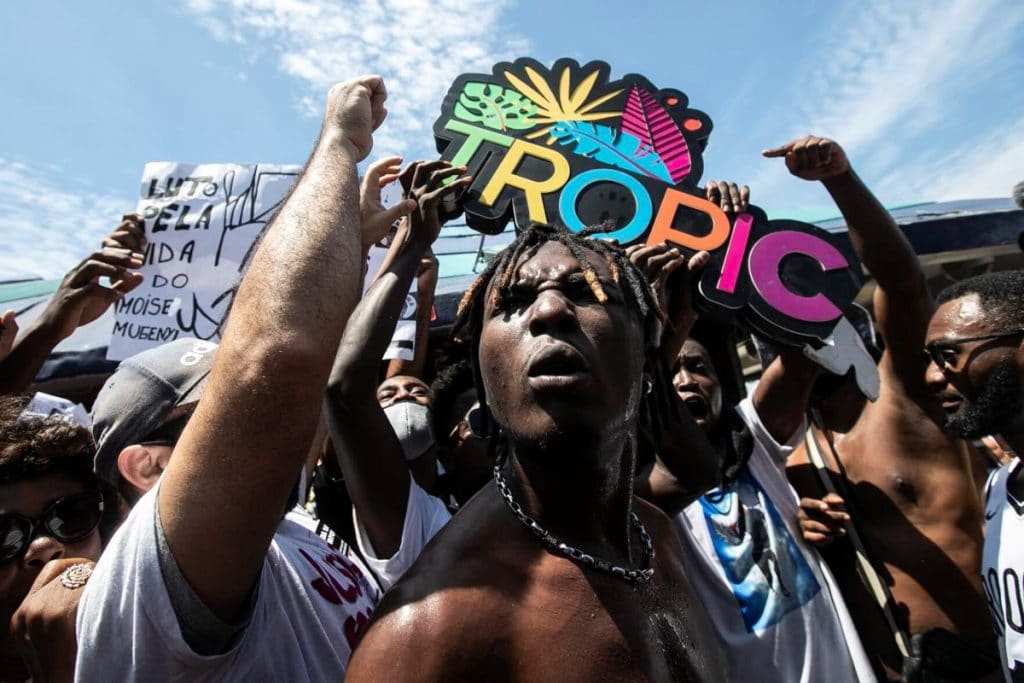
POLYGON ((340 132, 356 161, 374 147, 374 131, 384 122, 387 88, 380 76, 360 76, 336 84, 327 95, 324 131, 340 132))

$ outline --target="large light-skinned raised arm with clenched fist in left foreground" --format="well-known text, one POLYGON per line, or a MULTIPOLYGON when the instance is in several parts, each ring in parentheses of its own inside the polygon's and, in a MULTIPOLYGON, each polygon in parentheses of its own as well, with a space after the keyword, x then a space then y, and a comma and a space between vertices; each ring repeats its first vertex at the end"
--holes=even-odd
POLYGON ((324 387, 359 296, 356 163, 387 94, 338 84, 319 139, 239 288, 203 400, 159 494, 168 546, 197 595, 230 621, 260 572, 312 442, 324 387))

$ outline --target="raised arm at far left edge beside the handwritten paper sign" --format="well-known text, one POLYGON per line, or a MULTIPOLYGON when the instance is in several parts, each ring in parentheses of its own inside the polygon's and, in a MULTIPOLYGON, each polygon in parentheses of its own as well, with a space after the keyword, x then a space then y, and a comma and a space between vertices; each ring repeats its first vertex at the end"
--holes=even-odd
MULTIPOLYGON (((6 357, 0 353, 0 394, 28 389, 57 344, 142 283, 142 275, 131 269, 142 265, 144 247, 142 217, 125 214, 103 246, 63 276, 42 314, 13 343, 6 357), (100 278, 106 278, 110 287, 100 285, 100 278)), ((0 336, 6 338, 16 331, 13 314, 4 313, 0 336)))

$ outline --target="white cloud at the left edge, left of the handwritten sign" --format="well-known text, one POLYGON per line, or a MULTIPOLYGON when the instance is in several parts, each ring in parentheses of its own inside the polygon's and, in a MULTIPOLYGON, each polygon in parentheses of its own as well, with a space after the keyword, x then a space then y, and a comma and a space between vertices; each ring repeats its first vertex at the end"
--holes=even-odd
POLYGON ((130 199, 71 186, 0 158, 0 281, 62 276, 134 209, 130 199))

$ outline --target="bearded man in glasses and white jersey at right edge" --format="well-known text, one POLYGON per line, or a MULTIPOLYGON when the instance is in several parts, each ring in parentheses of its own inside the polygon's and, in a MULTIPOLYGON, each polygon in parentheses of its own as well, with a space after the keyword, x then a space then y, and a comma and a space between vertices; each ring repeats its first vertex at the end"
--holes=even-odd
POLYGON ((1024 681, 1024 271, 971 278, 944 290, 928 326, 926 380, 962 438, 1000 435, 1015 454, 985 486, 981 579, 1008 683, 1024 681))

